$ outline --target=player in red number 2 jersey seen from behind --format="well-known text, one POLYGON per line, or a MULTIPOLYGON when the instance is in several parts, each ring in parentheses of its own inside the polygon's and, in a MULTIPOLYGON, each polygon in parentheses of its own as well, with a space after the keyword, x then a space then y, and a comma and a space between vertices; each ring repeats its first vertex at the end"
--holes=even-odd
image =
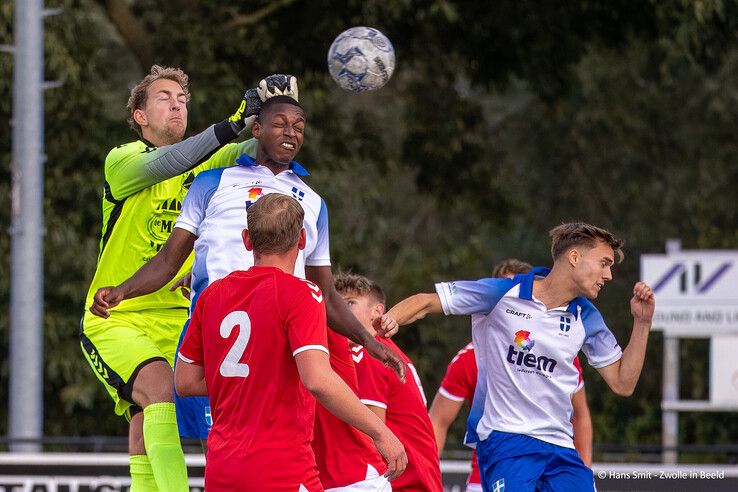
POLYGON ((175 371, 184 396, 209 394, 209 492, 322 491, 310 442, 315 400, 369 435, 402 473, 400 441, 331 369, 320 289, 291 275, 305 245, 303 209, 270 194, 248 211, 244 245, 255 265, 206 288, 175 371))

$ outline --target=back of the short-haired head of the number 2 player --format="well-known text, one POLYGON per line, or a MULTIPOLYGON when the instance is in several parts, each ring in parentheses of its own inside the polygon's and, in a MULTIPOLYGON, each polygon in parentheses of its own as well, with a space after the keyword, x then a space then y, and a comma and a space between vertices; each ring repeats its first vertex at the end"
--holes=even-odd
POLYGON ((300 240, 305 211, 297 200, 280 193, 259 198, 246 210, 254 256, 280 255, 300 240))

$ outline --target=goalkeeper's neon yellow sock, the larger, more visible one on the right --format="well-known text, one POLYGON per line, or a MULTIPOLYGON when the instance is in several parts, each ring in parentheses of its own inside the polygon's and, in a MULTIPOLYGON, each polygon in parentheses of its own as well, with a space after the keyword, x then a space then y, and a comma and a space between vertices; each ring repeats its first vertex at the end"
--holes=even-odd
POLYGON ((144 445, 161 492, 188 492, 187 466, 179 441, 174 403, 144 408, 144 445))

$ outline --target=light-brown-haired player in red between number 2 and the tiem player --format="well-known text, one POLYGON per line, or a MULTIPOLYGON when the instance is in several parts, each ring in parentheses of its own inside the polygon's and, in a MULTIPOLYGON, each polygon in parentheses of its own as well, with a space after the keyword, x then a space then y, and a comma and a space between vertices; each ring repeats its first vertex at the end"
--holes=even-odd
MULTIPOLYGON (((379 285, 360 275, 342 274, 336 277, 336 290, 356 319, 376 336, 374 320, 384 314, 384 293, 379 285)), ((352 347, 361 401, 385 421, 407 451, 407 469, 392 483, 392 490, 441 492, 438 449, 418 373, 394 342, 380 336, 377 339, 400 354, 413 375, 403 384, 381 362, 375 364, 361 346, 352 347)))

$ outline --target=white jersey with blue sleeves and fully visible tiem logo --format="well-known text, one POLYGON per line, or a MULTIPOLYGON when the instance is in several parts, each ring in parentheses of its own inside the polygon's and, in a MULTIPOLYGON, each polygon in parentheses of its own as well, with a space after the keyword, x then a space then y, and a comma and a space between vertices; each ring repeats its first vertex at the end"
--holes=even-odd
POLYGON ((577 297, 547 309, 533 297, 534 268, 512 279, 485 278, 436 284, 446 314, 472 315, 479 368, 465 442, 492 431, 525 434, 574 448, 571 397, 579 385, 574 358, 604 367, 622 350, 597 308, 577 297))

